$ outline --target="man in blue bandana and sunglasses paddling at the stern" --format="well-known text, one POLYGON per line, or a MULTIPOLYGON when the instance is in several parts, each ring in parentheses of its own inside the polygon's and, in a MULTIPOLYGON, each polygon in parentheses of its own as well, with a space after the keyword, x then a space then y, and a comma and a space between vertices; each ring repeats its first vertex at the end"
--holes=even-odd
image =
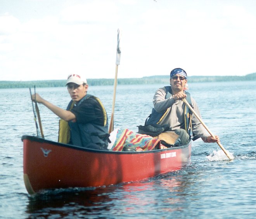
MULTIPOLYGON (((170 126, 169 131, 174 131, 179 136, 178 145, 186 145, 189 142, 189 134, 185 131, 185 103, 182 99, 187 96, 184 92, 184 88, 187 85, 187 73, 181 68, 173 69, 170 73, 170 85, 171 86, 159 88, 156 91, 153 98, 154 109, 158 113, 167 111, 163 119, 159 122, 159 125, 168 124, 170 126), (171 93, 169 98, 166 98, 167 89, 171 93)), ((190 98, 193 109, 200 116, 197 103, 194 98, 190 98)), ((209 135, 204 126, 194 115, 192 115, 192 131, 194 140, 202 138, 202 140, 207 143, 220 141, 218 136, 213 138, 209 135)))

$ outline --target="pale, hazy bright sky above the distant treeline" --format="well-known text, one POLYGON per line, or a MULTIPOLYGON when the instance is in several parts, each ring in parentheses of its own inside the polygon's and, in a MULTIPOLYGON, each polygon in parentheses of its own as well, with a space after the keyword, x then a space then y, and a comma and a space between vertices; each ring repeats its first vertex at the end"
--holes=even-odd
POLYGON ((244 76, 256 72, 254 0, 0 0, 0 81, 244 76))

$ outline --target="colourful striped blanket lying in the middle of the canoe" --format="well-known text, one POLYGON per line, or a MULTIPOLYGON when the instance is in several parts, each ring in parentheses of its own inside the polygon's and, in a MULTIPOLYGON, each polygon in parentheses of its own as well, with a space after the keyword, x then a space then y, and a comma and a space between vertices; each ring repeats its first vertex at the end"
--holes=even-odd
POLYGON ((153 150, 161 148, 160 140, 149 135, 134 133, 129 129, 119 129, 116 140, 112 146, 113 151, 122 151, 123 147, 133 148, 136 151, 153 150))

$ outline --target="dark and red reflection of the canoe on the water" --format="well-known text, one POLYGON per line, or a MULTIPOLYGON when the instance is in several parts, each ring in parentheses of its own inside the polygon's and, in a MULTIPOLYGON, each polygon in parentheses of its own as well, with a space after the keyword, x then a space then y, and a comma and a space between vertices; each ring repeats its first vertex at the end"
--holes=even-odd
MULTIPOLYGON (((189 167, 187 167, 189 168, 189 167)), ((185 200, 196 191, 185 170, 159 175, 140 182, 99 188, 70 188, 43 191, 29 197, 29 217, 94 217, 99 215, 136 216, 152 214, 160 217, 186 207, 185 200), (157 209, 161 206, 161 212, 157 209)))

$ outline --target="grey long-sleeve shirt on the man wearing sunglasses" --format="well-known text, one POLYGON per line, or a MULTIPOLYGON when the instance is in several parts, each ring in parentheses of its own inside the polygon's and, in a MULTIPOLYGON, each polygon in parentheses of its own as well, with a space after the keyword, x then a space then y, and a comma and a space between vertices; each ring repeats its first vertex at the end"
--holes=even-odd
MULTIPOLYGON (((166 88, 159 88, 153 98, 154 109, 157 112, 165 112, 168 109, 168 112, 165 114, 164 118, 161 120, 161 122, 159 122, 159 124, 169 124, 170 131, 175 131, 179 128, 185 129, 185 103, 182 100, 175 101, 173 99, 173 95, 170 98, 165 99, 166 92, 166 88)), ((195 110, 197 115, 200 116, 197 103, 192 97, 191 102, 192 108, 195 110)), ((203 141, 207 142, 206 138, 209 135, 204 126, 194 115, 192 115, 192 131, 194 140, 197 138, 202 138, 203 141)))

